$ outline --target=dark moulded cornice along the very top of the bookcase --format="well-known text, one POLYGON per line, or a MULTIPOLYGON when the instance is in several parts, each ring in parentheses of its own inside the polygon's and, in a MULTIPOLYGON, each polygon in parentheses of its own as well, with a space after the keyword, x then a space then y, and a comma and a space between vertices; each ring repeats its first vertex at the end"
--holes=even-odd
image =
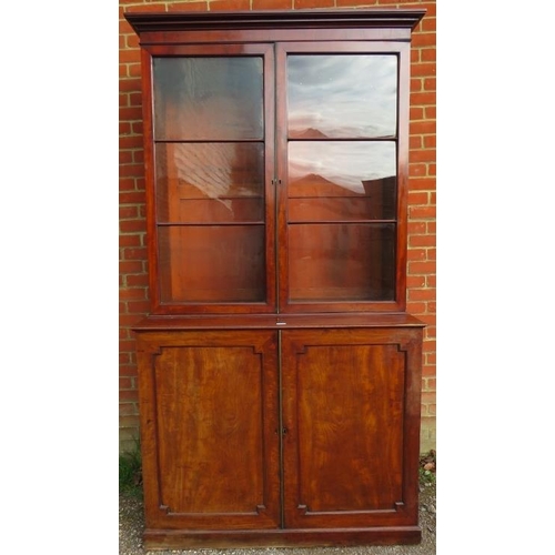
POLYGON ((209 29, 293 29, 293 28, 408 28, 414 29, 425 9, 331 9, 211 12, 125 12, 133 30, 153 31, 209 29))

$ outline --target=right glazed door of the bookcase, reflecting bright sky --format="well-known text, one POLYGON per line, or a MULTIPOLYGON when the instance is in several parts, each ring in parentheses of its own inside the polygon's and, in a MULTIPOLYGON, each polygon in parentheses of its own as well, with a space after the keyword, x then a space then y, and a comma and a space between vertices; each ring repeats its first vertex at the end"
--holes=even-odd
POLYGON ((404 307, 404 44, 278 44, 280 307, 404 307))

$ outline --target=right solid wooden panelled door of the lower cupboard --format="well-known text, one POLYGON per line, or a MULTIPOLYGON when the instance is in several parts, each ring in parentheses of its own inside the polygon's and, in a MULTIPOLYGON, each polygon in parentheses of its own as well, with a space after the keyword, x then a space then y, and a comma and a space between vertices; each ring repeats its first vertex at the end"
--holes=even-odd
POLYGON ((282 332, 284 525, 417 525, 420 330, 282 332))

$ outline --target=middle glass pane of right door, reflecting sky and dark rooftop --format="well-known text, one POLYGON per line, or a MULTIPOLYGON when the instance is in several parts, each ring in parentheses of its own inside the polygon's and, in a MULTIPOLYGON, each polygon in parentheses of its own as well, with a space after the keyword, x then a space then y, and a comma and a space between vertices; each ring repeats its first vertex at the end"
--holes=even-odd
POLYGON ((291 141, 289 221, 394 220, 393 141, 291 141))

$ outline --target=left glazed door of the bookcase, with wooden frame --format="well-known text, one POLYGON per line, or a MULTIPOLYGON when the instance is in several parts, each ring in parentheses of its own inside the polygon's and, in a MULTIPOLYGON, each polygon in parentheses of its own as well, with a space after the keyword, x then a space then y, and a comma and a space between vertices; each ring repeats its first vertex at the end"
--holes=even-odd
POLYGON ((148 56, 155 312, 273 311, 273 49, 150 47, 148 56))

